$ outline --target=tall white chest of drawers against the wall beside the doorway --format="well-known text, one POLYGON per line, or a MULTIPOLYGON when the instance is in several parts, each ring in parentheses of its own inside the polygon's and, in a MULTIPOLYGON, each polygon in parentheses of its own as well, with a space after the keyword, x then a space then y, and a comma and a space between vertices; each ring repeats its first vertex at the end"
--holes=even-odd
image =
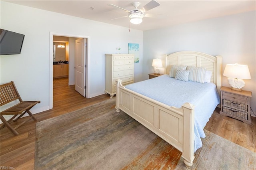
POLYGON ((116 94, 116 79, 122 85, 134 83, 134 54, 106 54, 105 92, 113 97, 116 94))

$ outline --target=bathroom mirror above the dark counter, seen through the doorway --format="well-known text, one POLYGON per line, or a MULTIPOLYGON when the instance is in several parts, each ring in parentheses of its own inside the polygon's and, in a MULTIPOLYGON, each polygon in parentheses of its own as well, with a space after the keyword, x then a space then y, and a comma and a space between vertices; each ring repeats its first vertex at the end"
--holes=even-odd
POLYGON ((68 42, 53 42, 53 61, 68 61, 68 42))

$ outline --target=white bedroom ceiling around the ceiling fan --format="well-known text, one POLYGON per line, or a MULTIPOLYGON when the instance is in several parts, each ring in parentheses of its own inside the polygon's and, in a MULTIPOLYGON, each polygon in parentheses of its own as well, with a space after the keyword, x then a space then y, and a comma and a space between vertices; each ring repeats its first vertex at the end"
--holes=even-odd
POLYGON ((151 30, 182 24, 186 22, 216 18, 231 14, 238 14, 256 10, 256 1, 238 0, 157 0, 160 6, 146 12, 146 14, 164 14, 161 19, 143 18, 140 25, 130 24, 124 10, 108 6, 114 4, 126 10, 133 10, 132 2, 140 2, 139 9, 150 0, 5 0, 15 4, 39 8, 52 12, 58 12, 89 20, 105 22, 137 30, 151 30), (91 9, 91 7, 93 9, 91 9))

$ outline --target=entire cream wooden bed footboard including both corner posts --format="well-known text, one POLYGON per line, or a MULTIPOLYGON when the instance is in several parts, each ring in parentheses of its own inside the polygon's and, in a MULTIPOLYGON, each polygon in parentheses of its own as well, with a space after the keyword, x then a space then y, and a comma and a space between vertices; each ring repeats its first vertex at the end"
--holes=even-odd
POLYGON ((194 111, 185 103, 170 107, 116 83, 116 109, 122 110, 182 152, 186 166, 194 160, 194 111))

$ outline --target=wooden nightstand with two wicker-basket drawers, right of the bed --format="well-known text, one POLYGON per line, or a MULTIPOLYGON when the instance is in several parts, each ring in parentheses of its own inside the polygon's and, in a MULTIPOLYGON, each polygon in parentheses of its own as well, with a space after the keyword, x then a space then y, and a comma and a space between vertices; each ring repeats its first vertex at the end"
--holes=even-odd
POLYGON ((252 124, 250 115, 251 91, 236 91, 222 86, 220 93, 220 115, 229 116, 244 123, 252 124))

